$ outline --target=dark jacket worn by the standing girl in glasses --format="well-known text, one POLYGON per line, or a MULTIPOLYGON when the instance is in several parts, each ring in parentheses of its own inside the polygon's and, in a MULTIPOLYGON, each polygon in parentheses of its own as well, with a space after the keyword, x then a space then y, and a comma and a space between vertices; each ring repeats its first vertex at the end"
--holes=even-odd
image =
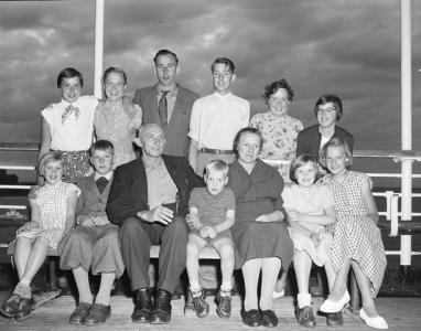
MULTIPOLYGON (((347 130, 335 126, 335 134, 333 134, 332 138, 341 138, 342 140, 345 140, 350 152, 353 152, 354 137, 347 130)), ((311 126, 300 131, 296 142, 296 156, 311 154, 317 160, 322 135, 319 132, 319 125, 311 126)))

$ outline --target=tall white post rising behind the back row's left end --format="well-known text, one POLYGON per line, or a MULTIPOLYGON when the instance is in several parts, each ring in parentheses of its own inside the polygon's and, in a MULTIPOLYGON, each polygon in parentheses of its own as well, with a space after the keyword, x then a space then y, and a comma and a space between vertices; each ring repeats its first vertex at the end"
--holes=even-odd
POLYGON ((95 60, 94 60, 94 95, 102 98, 102 58, 104 58, 104 0, 95 1, 95 60))

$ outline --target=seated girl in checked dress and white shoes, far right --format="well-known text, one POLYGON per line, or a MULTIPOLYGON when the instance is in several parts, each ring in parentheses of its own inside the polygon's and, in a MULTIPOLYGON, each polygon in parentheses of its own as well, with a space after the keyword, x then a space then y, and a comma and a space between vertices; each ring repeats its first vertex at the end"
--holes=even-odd
POLYGON ((377 227, 378 212, 371 194, 371 180, 365 173, 348 170, 352 153, 342 139, 333 138, 325 143, 321 161, 331 173, 322 182, 333 192, 337 223, 331 250, 336 279, 320 310, 337 312, 349 301, 346 280, 352 267, 363 297, 359 317, 369 327, 387 329, 388 324, 377 312, 374 302, 387 260, 377 227))

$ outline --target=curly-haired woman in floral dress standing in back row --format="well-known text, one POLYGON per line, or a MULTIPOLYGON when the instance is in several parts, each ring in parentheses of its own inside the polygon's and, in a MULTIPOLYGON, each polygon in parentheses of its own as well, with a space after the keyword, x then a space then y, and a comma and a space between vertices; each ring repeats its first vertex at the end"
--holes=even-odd
MULTIPOLYGON (((265 88, 265 103, 269 111, 256 114, 250 127, 263 137, 259 158, 263 160, 292 161, 295 158, 296 137, 303 129, 300 120, 288 115, 294 92, 287 79, 276 81, 265 88)), ((290 164, 277 164, 285 183, 291 183, 290 164)))

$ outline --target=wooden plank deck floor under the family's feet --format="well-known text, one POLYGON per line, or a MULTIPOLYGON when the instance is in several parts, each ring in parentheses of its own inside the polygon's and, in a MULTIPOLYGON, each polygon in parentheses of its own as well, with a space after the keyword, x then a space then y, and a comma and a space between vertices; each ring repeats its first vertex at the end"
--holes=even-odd
MULTIPOLYGON (((3 299, 4 292, 0 295, 3 299)), ((194 312, 184 314, 184 300, 173 300, 173 313, 170 324, 151 325, 132 323, 130 314, 133 303, 130 298, 125 296, 114 296, 111 298, 111 318, 93 330, 245 330, 250 329, 242 324, 240 318, 240 298, 235 296, 233 299, 233 314, 228 320, 222 320, 215 312, 213 297, 208 297, 210 313, 205 319, 198 319, 194 312)), ((376 300, 379 312, 387 319, 389 330, 421 330, 421 298, 378 298, 376 300)), ((314 298, 314 309, 322 303, 322 298, 314 298)), ((72 296, 61 296, 55 298, 33 312, 33 316, 22 322, 0 317, 0 330, 80 330, 84 327, 75 327, 68 323, 68 316, 75 307, 72 296)), ((280 318, 280 324, 276 330, 305 330, 298 325, 293 312, 293 298, 284 297, 274 301, 274 310, 280 318)), ((316 330, 327 330, 326 320, 322 316, 316 316, 316 330)), ((265 329, 262 327, 257 328, 265 329)), ((87 329, 85 329, 87 330, 87 329)), ((331 329, 332 330, 332 329, 331 329)), ((374 330, 364 324, 358 318, 344 314, 344 325, 337 330, 374 330)))

